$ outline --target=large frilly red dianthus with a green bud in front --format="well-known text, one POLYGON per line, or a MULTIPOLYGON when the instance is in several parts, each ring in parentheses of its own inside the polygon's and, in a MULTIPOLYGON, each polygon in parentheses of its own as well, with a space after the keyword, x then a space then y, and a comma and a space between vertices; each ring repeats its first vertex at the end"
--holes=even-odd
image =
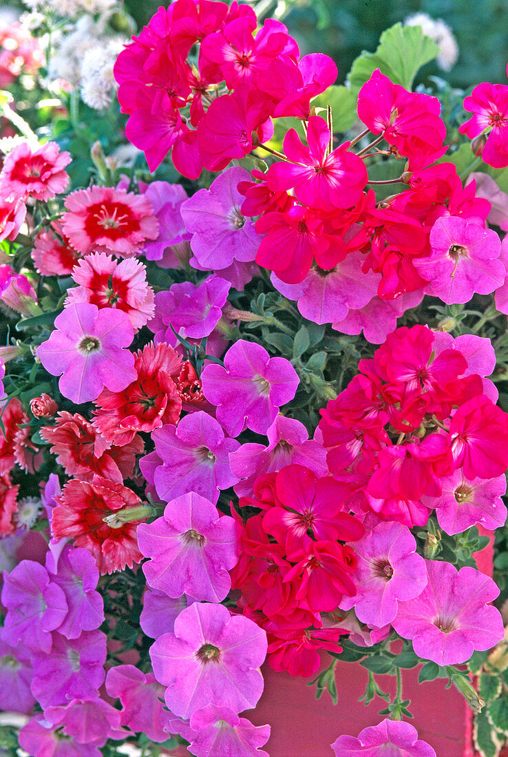
POLYGON ((84 547, 95 557, 101 572, 113 573, 132 568, 141 562, 136 528, 141 522, 133 520, 120 528, 111 528, 104 518, 129 507, 141 504, 133 491, 117 481, 95 475, 93 481, 73 478, 65 484, 51 516, 51 534, 56 539, 71 538, 76 547, 84 547))

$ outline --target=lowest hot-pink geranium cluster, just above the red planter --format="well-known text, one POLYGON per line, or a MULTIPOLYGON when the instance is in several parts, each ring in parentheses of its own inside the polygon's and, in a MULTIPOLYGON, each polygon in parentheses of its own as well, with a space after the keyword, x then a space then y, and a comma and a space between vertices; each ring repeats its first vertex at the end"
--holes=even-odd
POLYGON ((354 550, 341 544, 363 536, 360 521, 344 509, 350 490, 304 466, 286 466, 257 478, 254 497, 240 507, 260 514, 237 516, 240 559, 233 587, 242 589, 244 612, 269 634, 269 662, 276 670, 310 675, 318 649, 338 650, 347 633, 323 628, 321 612, 335 610, 355 593, 354 550))

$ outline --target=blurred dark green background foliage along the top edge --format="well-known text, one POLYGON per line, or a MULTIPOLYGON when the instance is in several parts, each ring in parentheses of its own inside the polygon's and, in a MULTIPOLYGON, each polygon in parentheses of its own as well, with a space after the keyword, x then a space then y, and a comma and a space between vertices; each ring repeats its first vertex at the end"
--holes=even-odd
MULTIPOLYGON (((142 26, 148 23, 159 0, 125 0, 129 14, 142 26)), ((302 55, 323 52, 338 67, 342 83, 362 50, 374 51, 379 36, 397 21, 425 13, 450 26, 459 46, 459 58, 443 74, 433 62, 422 69, 420 81, 429 75, 445 76, 452 86, 467 89, 481 81, 506 84, 508 44, 507 0, 254 0, 258 16, 275 15, 295 36, 302 55)))

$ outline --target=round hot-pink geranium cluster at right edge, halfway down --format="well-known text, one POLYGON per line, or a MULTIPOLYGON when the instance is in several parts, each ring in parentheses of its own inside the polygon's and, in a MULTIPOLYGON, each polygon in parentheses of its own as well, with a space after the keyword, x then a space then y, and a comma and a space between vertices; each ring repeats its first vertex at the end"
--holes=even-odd
MULTIPOLYGON (((330 470, 347 478, 361 510, 423 525, 434 507, 450 507, 444 481, 459 472, 453 491, 462 522, 481 520, 477 481, 497 479, 508 466, 508 416, 482 378, 492 357, 481 338, 413 326, 360 361, 360 375, 321 411, 319 428, 330 470)), ((489 512, 503 520, 497 495, 489 512)))

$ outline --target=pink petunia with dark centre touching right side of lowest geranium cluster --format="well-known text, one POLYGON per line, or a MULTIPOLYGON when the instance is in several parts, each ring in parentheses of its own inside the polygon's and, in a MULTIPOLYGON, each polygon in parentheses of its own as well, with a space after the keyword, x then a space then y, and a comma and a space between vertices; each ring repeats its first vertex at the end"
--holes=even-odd
POLYGON ((425 560, 416 554, 416 540, 400 523, 379 523, 354 544, 357 569, 354 597, 344 597, 341 609, 354 607, 358 620, 369 626, 391 623, 397 600, 418 597, 427 583, 425 560))

